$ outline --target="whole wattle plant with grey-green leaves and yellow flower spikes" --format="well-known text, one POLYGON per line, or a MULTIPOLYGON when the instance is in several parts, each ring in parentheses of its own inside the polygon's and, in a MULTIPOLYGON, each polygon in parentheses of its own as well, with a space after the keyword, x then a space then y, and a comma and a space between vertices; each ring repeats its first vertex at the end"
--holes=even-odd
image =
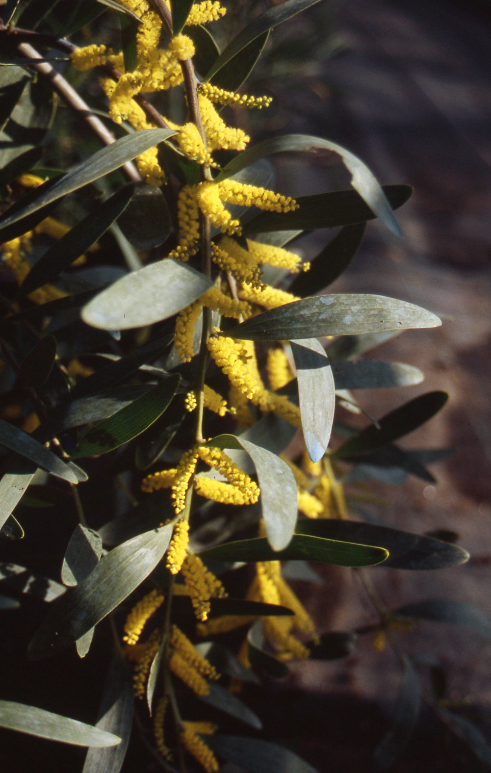
MULTIPOLYGON (((9 560, 0 570, 5 587, 25 575, 21 590, 49 602, 30 659, 76 645, 80 657, 93 646, 112 660, 95 726, 10 700, 0 701, 0 724, 90 747, 85 773, 121 769, 134 693, 137 730, 153 723, 153 753, 167 770, 216 771, 228 760, 252 773, 312 771, 292 750, 237 735, 237 721, 261 729, 237 690, 256 672, 285 676, 291 660, 346 656, 361 635, 375 635, 380 649, 387 639, 403 669, 393 726, 374 758, 387 769, 421 703, 394 630, 428 618, 489 637, 486 618, 454 601, 387 610, 360 570, 455 567, 465 550, 351 517, 357 475, 390 469, 434 480, 425 459, 445 451, 411 455, 396 442, 447 399, 423 393, 354 431, 340 423, 346 411, 337 414, 336 405, 360 413, 347 390, 409 386, 423 374, 353 357, 440 320, 394 298, 311 295, 344 271, 367 220, 401 235, 394 209, 411 190, 381 188, 326 139, 254 145, 229 125, 240 107, 269 106, 271 97, 235 92, 271 30, 316 2, 251 4, 254 18, 221 51, 203 26, 220 22, 219 2, 92 0, 70 13, 56 0, 3 6, 0 535, 19 540, 27 508, 47 521, 70 497, 80 523, 63 585, 9 560), (55 115, 59 101, 73 117, 55 115), (78 145, 63 135, 69 120, 78 145), (342 162, 352 189, 296 201, 274 192, 264 158, 280 152, 342 162), (310 264, 285 247, 333 227, 310 264), (297 444, 292 458, 285 451, 300 428, 304 450, 297 444), (128 497, 123 511, 115 486, 128 497), (104 502, 87 520, 84 499, 104 502), (307 561, 359 572, 377 624, 319 635, 288 584, 317 580, 307 561), (111 629, 113 652, 107 638, 92 643, 96 626, 111 629), (220 638, 244 626, 238 649, 234 634, 220 638), (215 734, 214 710, 225 734, 215 734)), ((243 19, 244 4, 236 12, 243 19)), ((39 555, 49 550, 46 536, 39 555)), ((12 614, 15 598, 0 601, 12 614)), ((424 697, 489 758, 479 730, 442 694, 424 697)))

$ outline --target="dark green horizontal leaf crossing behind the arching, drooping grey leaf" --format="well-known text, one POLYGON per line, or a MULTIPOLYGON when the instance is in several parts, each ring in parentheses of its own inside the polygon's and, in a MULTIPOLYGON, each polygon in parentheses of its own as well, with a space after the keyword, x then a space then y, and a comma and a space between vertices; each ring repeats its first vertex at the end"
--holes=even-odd
MULTIPOLYGON (((242 155, 242 154, 241 154, 242 155)), ((411 196, 410 186, 382 186, 382 191, 392 209, 411 196)), ((292 212, 261 212, 244 223, 243 233, 251 236, 263 231, 315 230, 336 228, 365 223, 373 220, 370 206, 353 190, 316 193, 295 199, 298 208, 292 212)))

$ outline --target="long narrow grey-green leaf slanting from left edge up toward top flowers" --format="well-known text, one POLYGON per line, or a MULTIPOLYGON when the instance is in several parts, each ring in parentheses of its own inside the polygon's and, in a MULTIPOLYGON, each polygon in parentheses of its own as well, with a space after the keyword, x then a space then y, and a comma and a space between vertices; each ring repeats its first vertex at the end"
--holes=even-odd
POLYGON ((142 129, 142 131, 136 131, 135 134, 121 137, 121 139, 113 142, 112 145, 107 145, 106 148, 102 148, 94 155, 91 155, 90 158, 77 164, 71 172, 56 180, 49 190, 39 193, 43 187, 39 186, 36 189, 39 195, 26 206, 22 206, 21 199, 19 201, 21 208, 14 214, 9 214, 10 210, 8 209, 5 216, 0 220, 0 228, 10 226, 17 220, 21 220, 27 215, 36 212, 37 209, 57 199, 61 199, 68 193, 72 193, 83 186, 87 186, 90 182, 101 179, 104 175, 114 172, 127 161, 131 161, 132 158, 145 152, 148 148, 158 145, 159 142, 175 134, 176 132, 171 129, 142 129))

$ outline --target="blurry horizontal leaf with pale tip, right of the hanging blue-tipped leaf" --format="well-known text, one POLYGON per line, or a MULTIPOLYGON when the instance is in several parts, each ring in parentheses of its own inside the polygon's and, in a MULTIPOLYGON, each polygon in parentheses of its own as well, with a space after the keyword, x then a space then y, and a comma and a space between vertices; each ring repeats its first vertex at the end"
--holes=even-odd
POLYGON ((414 386, 425 380, 425 374, 419 368, 404 363, 387 363, 380 359, 360 359, 357 363, 339 360, 332 363, 332 375, 336 390, 414 386))

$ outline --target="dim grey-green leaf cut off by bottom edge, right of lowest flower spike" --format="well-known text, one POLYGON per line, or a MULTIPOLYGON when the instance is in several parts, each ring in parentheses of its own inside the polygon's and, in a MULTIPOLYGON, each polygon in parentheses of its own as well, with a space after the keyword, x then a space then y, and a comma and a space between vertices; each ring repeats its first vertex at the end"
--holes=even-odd
POLYGON ((238 735, 207 735, 206 744, 247 773, 317 773, 297 754, 271 741, 238 735))

